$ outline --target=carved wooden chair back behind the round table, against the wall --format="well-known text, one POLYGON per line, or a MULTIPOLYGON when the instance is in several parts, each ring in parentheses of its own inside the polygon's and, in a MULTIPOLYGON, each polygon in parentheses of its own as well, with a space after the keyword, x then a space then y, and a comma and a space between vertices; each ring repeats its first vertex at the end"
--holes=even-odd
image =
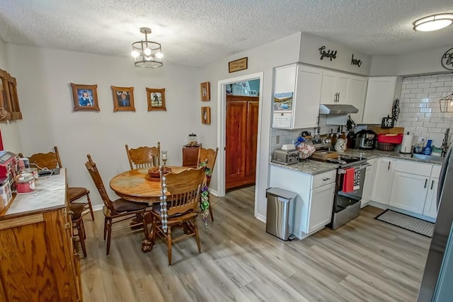
POLYGON ((136 149, 129 149, 126 145, 126 153, 130 170, 155 167, 160 164, 161 143, 158 141, 157 146, 143 146, 136 149))

